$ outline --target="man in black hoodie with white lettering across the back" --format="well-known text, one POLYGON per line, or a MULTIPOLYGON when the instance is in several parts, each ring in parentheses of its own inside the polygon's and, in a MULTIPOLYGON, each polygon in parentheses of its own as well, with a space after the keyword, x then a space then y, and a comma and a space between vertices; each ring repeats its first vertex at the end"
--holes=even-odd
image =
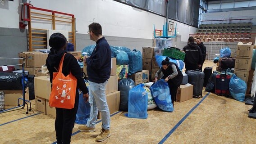
POLYGON ((196 70, 198 67, 201 67, 202 52, 200 47, 195 44, 192 36, 188 37, 187 45, 184 46, 183 50, 186 53, 184 59, 186 72, 189 70, 196 70))

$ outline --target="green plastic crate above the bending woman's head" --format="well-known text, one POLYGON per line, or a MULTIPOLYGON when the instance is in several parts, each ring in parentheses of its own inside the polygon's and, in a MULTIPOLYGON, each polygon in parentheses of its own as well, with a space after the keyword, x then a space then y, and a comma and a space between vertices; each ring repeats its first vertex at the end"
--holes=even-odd
POLYGON ((185 53, 183 53, 183 52, 181 52, 177 49, 168 48, 168 49, 164 49, 163 56, 167 56, 167 57, 175 58, 175 59, 180 59, 180 60, 184 61, 185 53))

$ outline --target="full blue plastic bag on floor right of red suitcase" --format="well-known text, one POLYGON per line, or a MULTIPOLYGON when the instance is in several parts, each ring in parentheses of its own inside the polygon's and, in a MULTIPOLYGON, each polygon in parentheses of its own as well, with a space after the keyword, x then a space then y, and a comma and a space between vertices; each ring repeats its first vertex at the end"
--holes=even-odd
POLYGON ((234 99, 243 102, 245 99, 246 89, 246 82, 243 81, 241 78, 237 77, 235 74, 233 74, 229 82, 229 92, 231 96, 234 99))

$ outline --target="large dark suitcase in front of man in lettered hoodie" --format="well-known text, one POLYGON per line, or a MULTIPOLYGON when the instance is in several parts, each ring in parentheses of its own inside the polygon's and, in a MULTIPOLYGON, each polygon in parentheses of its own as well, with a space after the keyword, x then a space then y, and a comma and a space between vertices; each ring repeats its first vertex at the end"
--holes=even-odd
POLYGON ((193 97, 201 98, 203 92, 203 84, 204 84, 204 72, 200 71, 187 71, 188 75, 188 83, 193 85, 193 97))

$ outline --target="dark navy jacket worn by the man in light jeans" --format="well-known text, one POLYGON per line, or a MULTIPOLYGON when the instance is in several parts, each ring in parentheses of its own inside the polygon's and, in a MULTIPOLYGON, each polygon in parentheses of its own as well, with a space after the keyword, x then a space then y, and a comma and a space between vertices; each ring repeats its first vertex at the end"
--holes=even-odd
POLYGON ((88 80, 103 83, 110 78, 111 49, 105 37, 96 41, 90 58, 86 58, 88 80))

